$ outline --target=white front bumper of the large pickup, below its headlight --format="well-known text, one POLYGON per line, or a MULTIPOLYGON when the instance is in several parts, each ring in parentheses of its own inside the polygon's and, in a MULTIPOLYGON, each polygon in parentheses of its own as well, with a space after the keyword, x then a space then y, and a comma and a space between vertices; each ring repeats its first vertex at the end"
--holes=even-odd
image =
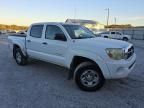
POLYGON ((136 63, 136 54, 128 60, 111 61, 107 62, 108 69, 110 71, 111 79, 125 78, 127 77, 136 63))

